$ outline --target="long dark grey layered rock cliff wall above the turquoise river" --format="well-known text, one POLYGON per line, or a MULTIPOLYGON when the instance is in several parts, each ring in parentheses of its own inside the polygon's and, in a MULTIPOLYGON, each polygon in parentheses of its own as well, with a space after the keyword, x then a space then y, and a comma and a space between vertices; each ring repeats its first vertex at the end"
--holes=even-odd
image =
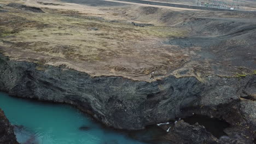
MULTIPOLYGON (((91 77, 65 66, 10 61, 3 55, 0 55, 0 73, 0 91, 72 104, 109 127, 143 129, 149 124, 197 113, 224 119, 232 125, 226 130, 228 138, 214 142, 253 143, 255 139, 255 101, 240 98, 255 94, 255 75, 231 78, 211 75, 202 77, 202 81, 174 76, 153 82, 133 81, 118 76, 91 77)), ((200 133, 205 131, 201 126, 183 123, 175 126, 181 128, 176 128, 177 133, 182 129, 197 133, 194 128, 200 133)), ((182 134, 186 137, 191 133, 182 134)), ((183 135, 179 135, 181 139, 183 135)))

